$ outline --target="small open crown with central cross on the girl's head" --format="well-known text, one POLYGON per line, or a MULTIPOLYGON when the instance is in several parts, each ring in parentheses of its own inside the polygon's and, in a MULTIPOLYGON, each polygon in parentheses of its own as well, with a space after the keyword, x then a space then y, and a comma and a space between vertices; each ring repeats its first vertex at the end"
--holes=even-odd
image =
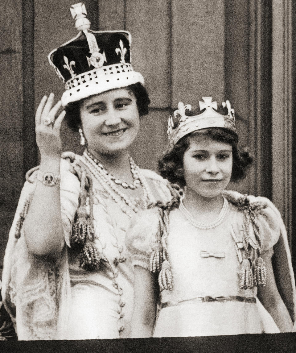
POLYGON ((182 137, 189 133, 209 127, 222 127, 236 132, 234 109, 231 108, 230 102, 222 102, 222 107, 228 109, 227 115, 222 115, 217 112, 217 102, 212 102, 212 97, 202 97, 203 102, 199 101, 201 114, 194 116, 187 116, 186 110, 191 110, 191 105, 184 105, 182 102, 178 103, 178 109, 175 110, 175 118, 180 117, 178 125, 174 128, 173 117, 168 119, 168 137, 171 146, 174 146, 182 137))

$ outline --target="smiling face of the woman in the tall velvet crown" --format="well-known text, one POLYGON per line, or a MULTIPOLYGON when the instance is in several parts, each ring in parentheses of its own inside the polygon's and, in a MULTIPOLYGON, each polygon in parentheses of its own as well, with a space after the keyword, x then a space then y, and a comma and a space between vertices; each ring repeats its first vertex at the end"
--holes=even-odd
POLYGON ((136 99, 125 88, 85 98, 80 117, 88 148, 100 154, 127 150, 139 130, 136 99))

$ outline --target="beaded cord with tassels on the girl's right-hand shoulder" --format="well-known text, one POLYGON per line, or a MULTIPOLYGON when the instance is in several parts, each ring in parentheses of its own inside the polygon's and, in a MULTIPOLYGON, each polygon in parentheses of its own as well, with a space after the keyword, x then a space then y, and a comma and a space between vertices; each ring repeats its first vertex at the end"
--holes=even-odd
POLYGON ((265 286, 267 281, 267 271, 265 262, 261 257, 262 239, 258 214, 262 209, 266 208, 267 205, 262 202, 250 203, 247 195, 244 195, 238 199, 237 206, 244 216, 244 259, 239 273, 240 287, 242 289, 248 289, 253 288, 254 286, 265 286))

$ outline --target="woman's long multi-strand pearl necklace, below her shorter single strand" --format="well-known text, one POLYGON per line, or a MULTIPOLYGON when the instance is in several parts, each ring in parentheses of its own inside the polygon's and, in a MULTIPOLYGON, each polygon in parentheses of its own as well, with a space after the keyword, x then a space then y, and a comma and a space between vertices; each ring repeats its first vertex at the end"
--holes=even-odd
MULTIPOLYGON (((105 168, 101 168, 97 165, 97 163, 89 156, 89 152, 84 151, 84 157, 86 161, 86 166, 89 168, 92 175, 96 178, 98 183, 102 186, 102 188, 110 195, 110 197, 121 205, 121 209, 124 213, 129 216, 132 216, 133 212, 137 213, 139 211, 137 201, 131 201, 125 193, 121 192, 114 183, 114 180, 111 179, 109 173, 106 173, 105 168), (104 171, 105 170, 105 171, 104 171)), ((134 168, 139 176, 140 185, 143 187, 143 201, 144 207, 147 207, 149 203, 155 202, 154 197, 150 191, 150 187, 147 184, 147 181, 143 175, 140 173, 140 169, 138 166, 134 164, 134 168)))

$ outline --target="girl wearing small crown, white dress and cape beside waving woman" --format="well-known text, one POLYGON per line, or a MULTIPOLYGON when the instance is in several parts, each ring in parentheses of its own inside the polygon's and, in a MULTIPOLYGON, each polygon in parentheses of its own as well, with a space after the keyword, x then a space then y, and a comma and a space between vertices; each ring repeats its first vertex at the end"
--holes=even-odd
POLYGON ((268 199, 225 190, 252 158, 237 147, 229 101, 222 115, 211 97, 203 100, 194 116, 178 104, 160 162, 162 175, 185 188, 183 197, 143 211, 128 232, 131 336, 292 331, 295 283, 282 219, 268 199))

